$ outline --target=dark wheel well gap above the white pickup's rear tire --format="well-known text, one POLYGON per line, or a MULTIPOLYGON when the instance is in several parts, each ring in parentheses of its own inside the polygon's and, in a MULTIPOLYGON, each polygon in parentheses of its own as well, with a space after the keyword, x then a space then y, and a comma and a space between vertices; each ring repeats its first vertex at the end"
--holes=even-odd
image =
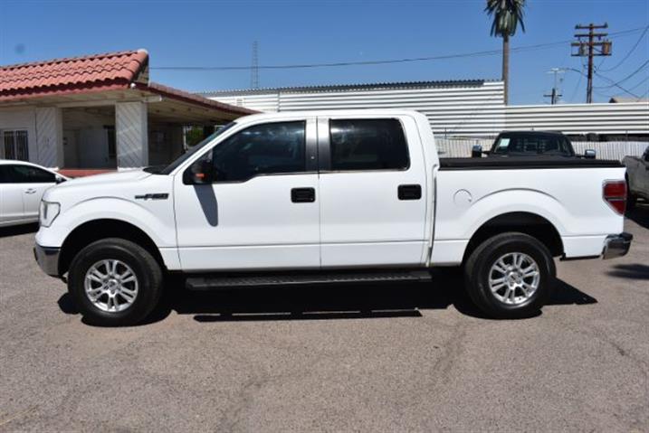
POLYGON ((463 261, 468 259, 473 249, 478 248, 484 240, 506 231, 529 234, 548 247, 553 257, 563 255, 561 236, 559 236, 557 229, 550 221, 535 213, 510 212, 492 218, 473 233, 464 251, 463 261))

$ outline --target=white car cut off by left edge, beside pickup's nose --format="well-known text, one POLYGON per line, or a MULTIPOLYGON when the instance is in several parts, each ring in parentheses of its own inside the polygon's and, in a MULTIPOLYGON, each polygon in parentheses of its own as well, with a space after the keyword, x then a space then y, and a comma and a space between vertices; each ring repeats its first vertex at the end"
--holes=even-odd
POLYGON ((0 159, 0 227, 37 222, 45 190, 66 180, 40 165, 0 159))

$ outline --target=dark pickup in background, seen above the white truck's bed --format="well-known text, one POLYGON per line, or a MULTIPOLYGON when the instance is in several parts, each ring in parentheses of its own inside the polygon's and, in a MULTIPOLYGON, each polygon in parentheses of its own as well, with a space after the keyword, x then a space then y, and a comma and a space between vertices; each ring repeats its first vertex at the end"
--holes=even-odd
POLYGON ((493 142, 492 148, 482 150, 482 146, 473 146, 472 157, 503 156, 567 156, 595 158, 595 150, 587 150, 584 155, 577 155, 568 136, 560 132, 549 131, 507 131, 501 132, 493 142))

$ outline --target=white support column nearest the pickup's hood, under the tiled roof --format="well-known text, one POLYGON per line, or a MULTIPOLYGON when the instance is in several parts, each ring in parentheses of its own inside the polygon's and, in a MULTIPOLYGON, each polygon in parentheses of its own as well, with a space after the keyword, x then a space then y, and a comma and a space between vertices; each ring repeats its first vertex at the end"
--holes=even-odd
POLYGON ((146 102, 118 102, 115 104, 115 136, 118 168, 148 165, 146 102))

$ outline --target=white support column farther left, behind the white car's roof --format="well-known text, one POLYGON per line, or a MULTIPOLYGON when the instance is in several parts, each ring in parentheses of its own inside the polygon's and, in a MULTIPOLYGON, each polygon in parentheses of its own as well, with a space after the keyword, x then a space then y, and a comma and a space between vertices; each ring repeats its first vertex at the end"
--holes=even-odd
POLYGON ((63 120, 61 108, 36 108, 36 164, 63 167, 63 120))

